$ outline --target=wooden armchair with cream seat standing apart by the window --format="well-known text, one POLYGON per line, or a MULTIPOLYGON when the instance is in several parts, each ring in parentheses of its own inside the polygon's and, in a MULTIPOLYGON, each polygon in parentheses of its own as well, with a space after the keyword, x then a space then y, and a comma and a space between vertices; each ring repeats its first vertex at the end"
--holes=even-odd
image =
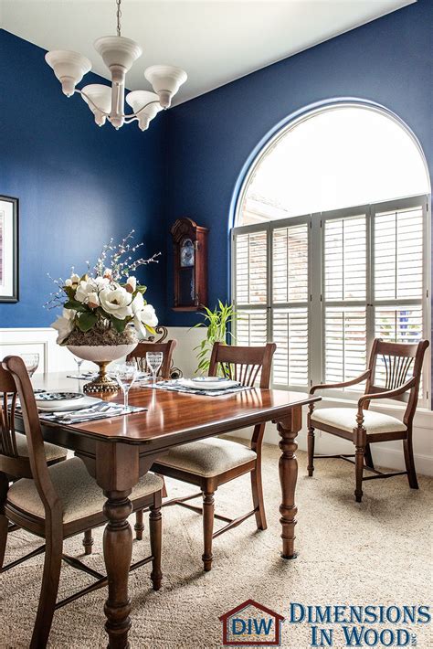
POLYGON ((411 489, 417 489, 414 452, 412 447, 413 420, 417 410, 419 382, 428 340, 417 344, 387 343, 376 338, 368 368, 360 377, 343 383, 312 386, 310 394, 318 390, 345 388, 362 381, 365 383, 364 396, 358 399, 358 408, 321 408, 314 410, 310 405, 308 415, 308 474, 314 471, 314 458, 337 457, 355 465, 355 491, 357 503, 363 497, 364 480, 390 478, 394 475, 407 475, 411 489), (407 403, 403 420, 372 412, 370 403, 377 399, 395 399, 407 403), (314 430, 329 432, 345 440, 354 442, 354 454, 314 455, 314 430), (406 471, 382 473, 375 469, 371 444, 403 440, 406 471), (352 459, 354 458, 354 459, 352 459), (375 473, 364 477, 364 469, 375 473))

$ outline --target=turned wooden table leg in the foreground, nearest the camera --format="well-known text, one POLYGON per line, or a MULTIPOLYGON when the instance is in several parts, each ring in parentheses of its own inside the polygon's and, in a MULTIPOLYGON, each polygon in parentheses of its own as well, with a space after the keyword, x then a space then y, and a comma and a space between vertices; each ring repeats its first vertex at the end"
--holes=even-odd
POLYGON ((108 518, 104 531, 104 559, 108 576, 108 599, 104 612, 105 629, 110 649, 128 649, 131 628, 131 600, 128 597, 128 577, 132 559, 132 529, 128 516, 132 514, 127 491, 104 491, 107 502, 104 514, 108 518))

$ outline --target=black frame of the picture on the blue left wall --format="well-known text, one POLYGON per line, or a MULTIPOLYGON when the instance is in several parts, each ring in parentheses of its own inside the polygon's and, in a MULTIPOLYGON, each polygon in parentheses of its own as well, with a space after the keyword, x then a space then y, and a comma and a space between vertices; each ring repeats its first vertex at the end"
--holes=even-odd
MULTIPOLYGON (((8 210, 9 211, 9 210, 8 210)), ((19 300, 19 200, 15 197, 0 196, 0 303, 16 303, 19 300), (9 225, 5 223, 5 208, 4 203, 9 203, 12 206, 12 223, 9 225), (3 219, 2 219, 3 218, 3 219), (8 244, 6 258, 7 268, 5 268, 5 229, 12 234, 12 241, 8 244), (12 274, 12 277, 10 275, 12 274), (7 285, 10 289, 7 290, 5 285, 5 276, 7 285), (4 289, 4 291, 2 291, 4 289)))

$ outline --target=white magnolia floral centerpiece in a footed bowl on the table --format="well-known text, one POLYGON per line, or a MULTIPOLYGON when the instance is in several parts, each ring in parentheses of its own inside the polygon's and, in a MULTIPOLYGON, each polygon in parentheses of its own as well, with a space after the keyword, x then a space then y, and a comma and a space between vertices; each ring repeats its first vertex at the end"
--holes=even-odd
POLYGON ((113 239, 103 246, 94 268, 79 275, 71 269, 67 280, 53 280, 57 291, 46 306, 62 307, 62 314, 51 324, 58 331, 58 345, 68 346, 75 355, 100 367, 98 378, 87 384, 87 392, 114 391, 117 384, 107 377, 106 367, 126 356, 140 339, 154 335, 158 319, 152 304, 143 294, 135 271, 157 261, 158 255, 133 261, 143 243, 132 245, 133 230, 118 245, 113 239))

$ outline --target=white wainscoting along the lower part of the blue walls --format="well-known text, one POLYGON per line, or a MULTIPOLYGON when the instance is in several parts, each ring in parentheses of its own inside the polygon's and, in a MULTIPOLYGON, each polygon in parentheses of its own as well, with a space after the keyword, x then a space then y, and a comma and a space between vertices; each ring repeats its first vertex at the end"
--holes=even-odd
MULTIPOLYGON (((194 374, 196 362, 195 346, 199 345, 206 334, 203 329, 190 329, 188 327, 169 327, 169 337, 177 340, 174 350, 174 365, 180 367, 185 377, 194 374)), ((37 372, 64 372, 76 370, 77 366, 66 347, 56 345, 57 332, 47 328, 0 328, 0 358, 9 354, 33 353, 39 354, 39 367, 37 372)), ((94 367, 91 363, 86 367, 94 367)), ((321 408, 335 408, 336 406, 350 406, 347 401, 326 399, 321 402, 321 408)), ((372 409, 379 410, 379 409, 372 409)), ((400 406, 383 406, 383 412, 402 417, 400 406)), ((306 413, 304 421, 306 420, 306 413)), ((417 472, 433 475, 433 412, 417 410, 414 427, 414 450, 417 472)), ((238 431, 239 436, 248 438, 250 431, 238 431)), ((268 424, 265 433, 265 442, 276 444, 279 435, 272 424, 268 424)), ((298 437, 299 447, 306 450, 306 430, 300 432, 298 437)), ((318 453, 353 452, 354 446, 332 435, 316 432, 316 450, 318 453)), ((384 442, 373 445, 373 455, 376 463, 393 469, 404 468, 403 450, 401 442, 384 442)), ((316 463, 320 472, 320 461, 316 463)), ((303 471, 304 467, 300 467, 303 471)))

